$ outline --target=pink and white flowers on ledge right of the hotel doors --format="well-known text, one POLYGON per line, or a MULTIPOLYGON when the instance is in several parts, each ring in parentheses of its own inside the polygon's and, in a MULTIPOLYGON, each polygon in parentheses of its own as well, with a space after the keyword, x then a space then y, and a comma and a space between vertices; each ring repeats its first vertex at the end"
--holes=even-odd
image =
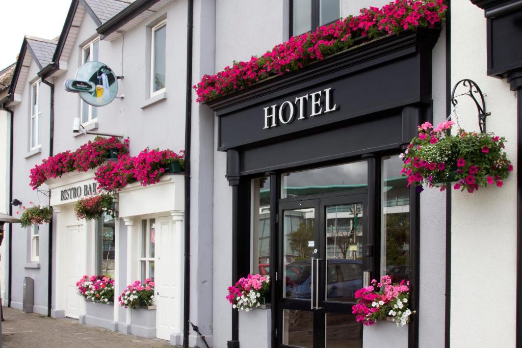
POLYGON ((373 279, 370 286, 355 292, 357 304, 352 306, 355 319, 365 326, 372 326, 380 319, 391 317, 397 326, 405 326, 410 316, 416 313, 408 308, 408 285, 404 280, 392 284, 388 275, 383 275, 378 283, 373 279))

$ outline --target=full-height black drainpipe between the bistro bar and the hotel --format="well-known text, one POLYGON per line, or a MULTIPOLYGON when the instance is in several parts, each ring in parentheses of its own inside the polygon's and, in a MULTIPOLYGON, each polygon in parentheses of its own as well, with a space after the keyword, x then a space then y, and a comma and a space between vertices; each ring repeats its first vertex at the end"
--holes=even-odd
POLYGON ((191 130, 192 130, 192 27, 194 0, 187 8, 187 86, 185 98, 185 265, 183 290, 183 347, 188 347, 191 291, 191 130))

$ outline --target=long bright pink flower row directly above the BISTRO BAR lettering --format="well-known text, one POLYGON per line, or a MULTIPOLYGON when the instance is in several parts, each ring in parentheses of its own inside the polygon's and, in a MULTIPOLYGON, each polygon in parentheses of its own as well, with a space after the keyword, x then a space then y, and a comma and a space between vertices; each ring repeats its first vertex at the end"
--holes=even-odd
POLYGON ((112 151, 121 156, 128 152, 128 147, 128 139, 122 141, 116 137, 96 137, 74 152, 69 150, 60 152, 43 160, 41 164, 35 165, 29 174, 31 179, 29 185, 35 190, 47 179, 61 177, 75 170, 86 172, 89 169, 94 169, 109 158, 112 151))

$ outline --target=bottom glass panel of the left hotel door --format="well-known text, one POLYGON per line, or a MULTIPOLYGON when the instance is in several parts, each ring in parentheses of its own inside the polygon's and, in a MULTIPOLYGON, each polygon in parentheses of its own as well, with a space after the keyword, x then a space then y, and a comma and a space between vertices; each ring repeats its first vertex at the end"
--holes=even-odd
POLYGON ((283 344, 313 348, 314 313, 312 311, 283 309, 283 344))

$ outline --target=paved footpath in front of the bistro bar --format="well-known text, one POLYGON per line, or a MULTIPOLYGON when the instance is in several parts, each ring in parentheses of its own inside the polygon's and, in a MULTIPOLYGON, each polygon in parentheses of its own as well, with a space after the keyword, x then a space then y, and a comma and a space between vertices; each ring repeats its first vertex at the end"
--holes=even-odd
POLYGON ((95 326, 82 325, 76 319, 55 319, 4 307, 3 348, 156 348, 170 347, 167 341, 147 339, 95 326))

